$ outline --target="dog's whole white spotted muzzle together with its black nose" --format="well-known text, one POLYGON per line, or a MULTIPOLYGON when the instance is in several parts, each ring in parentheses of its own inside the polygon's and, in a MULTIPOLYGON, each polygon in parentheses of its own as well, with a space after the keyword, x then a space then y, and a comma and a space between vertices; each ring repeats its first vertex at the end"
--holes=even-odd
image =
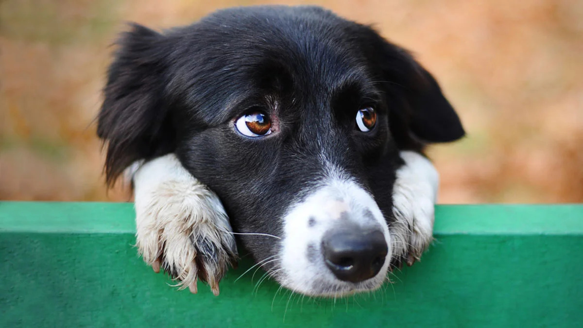
POLYGON ((375 289, 385 280, 391 260, 387 222, 373 197, 353 180, 330 179, 304 201, 291 205, 283 217, 283 229, 278 280, 285 287, 308 295, 340 296, 375 289), (385 247, 375 251, 377 259, 371 259, 376 261, 374 272, 344 273, 357 265, 350 256, 342 257, 342 252, 352 252, 343 249, 344 236, 355 239, 350 247, 363 254, 374 246, 369 245, 371 239, 378 245, 375 250, 385 247), (331 257, 326 252, 330 247, 339 256, 331 257))

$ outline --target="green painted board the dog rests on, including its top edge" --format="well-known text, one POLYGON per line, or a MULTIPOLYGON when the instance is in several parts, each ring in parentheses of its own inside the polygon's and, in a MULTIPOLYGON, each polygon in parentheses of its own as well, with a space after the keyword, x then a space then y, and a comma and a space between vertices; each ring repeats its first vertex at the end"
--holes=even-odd
POLYGON ((583 205, 441 205, 394 284, 291 294, 243 260, 215 297, 169 287, 132 246, 132 204, 1 203, 0 327, 583 327, 583 205))

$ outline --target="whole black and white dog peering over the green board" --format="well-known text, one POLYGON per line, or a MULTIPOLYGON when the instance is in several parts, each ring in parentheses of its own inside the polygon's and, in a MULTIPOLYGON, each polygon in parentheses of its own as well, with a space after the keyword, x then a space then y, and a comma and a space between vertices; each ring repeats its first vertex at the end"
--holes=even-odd
POLYGON ((108 183, 136 168, 154 271, 218 294, 237 235, 284 287, 340 296, 431 242, 438 175, 422 150, 464 131, 435 79, 371 27, 258 6, 163 34, 134 25, 119 45, 98 134, 108 183))

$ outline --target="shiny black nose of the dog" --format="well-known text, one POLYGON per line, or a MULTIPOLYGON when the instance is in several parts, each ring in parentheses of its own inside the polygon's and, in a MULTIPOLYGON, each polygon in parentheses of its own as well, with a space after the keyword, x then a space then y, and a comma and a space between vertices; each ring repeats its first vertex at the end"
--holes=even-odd
POLYGON ((385 263, 388 247, 380 230, 342 227, 325 233, 322 253, 336 278, 360 282, 377 275, 385 263))

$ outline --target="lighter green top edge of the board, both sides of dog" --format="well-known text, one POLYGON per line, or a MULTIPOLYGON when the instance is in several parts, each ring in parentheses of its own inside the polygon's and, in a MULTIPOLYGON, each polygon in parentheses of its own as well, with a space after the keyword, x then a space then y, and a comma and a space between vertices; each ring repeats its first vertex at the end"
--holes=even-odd
MULTIPOLYGON (((0 201, 6 232, 134 234, 134 204, 0 201)), ((436 205, 434 234, 583 236, 583 204, 436 205)))

